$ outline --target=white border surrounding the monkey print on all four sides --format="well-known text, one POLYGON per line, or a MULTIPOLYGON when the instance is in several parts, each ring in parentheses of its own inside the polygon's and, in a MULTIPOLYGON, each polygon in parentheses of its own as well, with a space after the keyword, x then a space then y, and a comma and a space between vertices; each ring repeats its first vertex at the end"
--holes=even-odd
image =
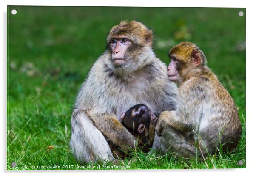
MULTIPOLYGON (((8 0, 7 2, 1 1, 1 26, 0 35, 2 41, 0 42, 0 53, 2 53, 1 59, 1 86, 0 86, 0 97, 1 97, 1 106, 0 112, 2 113, 2 123, 1 127, 1 159, 0 159, 0 171, 4 176, 6 175, 23 175, 23 176, 34 176, 35 173, 32 171, 26 172, 6 172, 6 10, 7 5, 44 5, 44 6, 154 6, 154 7, 243 7, 246 8, 246 169, 226 169, 226 170, 94 170, 94 171, 37 171, 36 175, 44 175, 46 173, 54 174, 55 176, 67 176, 67 175, 122 175, 122 176, 131 176, 137 174, 145 175, 156 175, 158 172, 163 175, 178 174, 178 175, 207 175, 207 176, 216 176, 219 174, 232 174, 232 175, 250 175, 253 173, 256 164, 256 113, 253 113, 254 104, 255 104, 255 66, 256 66, 256 56, 255 56, 255 47, 256 47, 256 38, 255 38, 255 17, 256 17, 256 7, 251 3, 253 1, 246 0, 8 0)), ((220 58, 221 59, 221 58, 220 58)), ((255 171, 254 171, 255 174, 255 171)))

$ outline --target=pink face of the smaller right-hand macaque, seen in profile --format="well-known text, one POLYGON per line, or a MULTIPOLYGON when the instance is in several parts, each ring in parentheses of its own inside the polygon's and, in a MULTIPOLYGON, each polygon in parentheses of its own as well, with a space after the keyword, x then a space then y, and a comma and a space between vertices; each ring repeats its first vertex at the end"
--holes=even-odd
POLYGON ((177 81, 179 78, 179 71, 177 70, 177 59, 175 55, 171 55, 171 63, 167 67, 167 75, 170 81, 177 81))

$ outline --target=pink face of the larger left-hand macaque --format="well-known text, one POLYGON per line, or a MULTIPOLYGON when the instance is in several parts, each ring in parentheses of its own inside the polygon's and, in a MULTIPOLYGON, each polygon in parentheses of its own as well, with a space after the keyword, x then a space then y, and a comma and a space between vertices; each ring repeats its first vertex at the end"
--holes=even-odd
POLYGON ((111 38, 110 48, 112 51, 111 60, 114 66, 120 66, 126 63, 125 53, 131 46, 132 42, 126 36, 117 36, 111 38))

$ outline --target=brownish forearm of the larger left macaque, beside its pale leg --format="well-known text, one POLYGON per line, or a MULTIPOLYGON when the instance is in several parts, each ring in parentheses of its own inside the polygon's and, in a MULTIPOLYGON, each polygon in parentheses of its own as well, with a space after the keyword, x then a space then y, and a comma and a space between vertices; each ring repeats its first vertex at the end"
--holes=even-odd
POLYGON ((134 137, 122 126, 115 115, 104 113, 90 115, 90 117, 100 132, 122 150, 134 148, 134 137))

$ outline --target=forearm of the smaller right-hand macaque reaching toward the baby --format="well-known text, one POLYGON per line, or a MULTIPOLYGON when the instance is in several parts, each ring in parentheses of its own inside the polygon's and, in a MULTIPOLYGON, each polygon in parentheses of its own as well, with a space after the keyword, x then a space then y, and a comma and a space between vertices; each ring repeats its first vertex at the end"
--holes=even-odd
POLYGON ((182 123, 182 121, 179 120, 179 117, 176 115, 176 111, 163 111, 159 115, 159 119, 156 124, 156 134, 161 136, 162 129, 168 126, 172 126, 182 132, 191 129, 191 126, 182 123))

